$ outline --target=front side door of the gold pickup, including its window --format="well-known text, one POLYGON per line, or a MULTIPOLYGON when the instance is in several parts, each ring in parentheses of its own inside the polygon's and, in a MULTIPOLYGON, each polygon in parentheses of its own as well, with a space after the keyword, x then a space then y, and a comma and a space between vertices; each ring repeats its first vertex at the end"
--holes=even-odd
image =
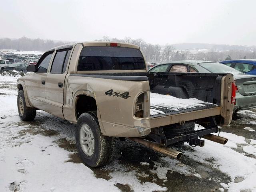
MULTIPOLYGON (((26 82, 26 92, 28 100, 32 106, 46 110, 44 105, 45 100, 45 81, 49 71, 49 64, 52 58, 53 50, 42 55, 38 64, 36 65, 36 72, 30 72, 26 82)), ((47 111, 47 110, 46 110, 47 111)))

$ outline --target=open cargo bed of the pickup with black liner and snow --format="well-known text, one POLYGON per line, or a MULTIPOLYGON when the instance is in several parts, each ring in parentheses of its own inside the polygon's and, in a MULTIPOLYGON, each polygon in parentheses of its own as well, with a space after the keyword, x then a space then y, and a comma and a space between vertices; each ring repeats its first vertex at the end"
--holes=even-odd
POLYGON ((150 73, 152 128, 221 114, 226 74, 150 73))

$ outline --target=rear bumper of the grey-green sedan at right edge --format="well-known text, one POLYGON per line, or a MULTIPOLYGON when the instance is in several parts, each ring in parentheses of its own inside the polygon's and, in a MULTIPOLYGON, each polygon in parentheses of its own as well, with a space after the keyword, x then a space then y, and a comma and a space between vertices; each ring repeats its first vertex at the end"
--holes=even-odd
POLYGON ((236 105, 234 106, 234 112, 251 108, 256 108, 256 95, 243 96, 240 93, 236 93, 236 105))

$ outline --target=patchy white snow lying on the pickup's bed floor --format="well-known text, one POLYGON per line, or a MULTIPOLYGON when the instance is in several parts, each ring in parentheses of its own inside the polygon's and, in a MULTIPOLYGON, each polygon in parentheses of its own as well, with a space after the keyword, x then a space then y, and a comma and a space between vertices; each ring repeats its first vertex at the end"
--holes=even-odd
POLYGON ((162 116, 163 114, 177 114, 192 110, 215 107, 215 104, 204 102, 196 98, 180 99, 170 95, 162 95, 150 92, 150 116, 162 116))

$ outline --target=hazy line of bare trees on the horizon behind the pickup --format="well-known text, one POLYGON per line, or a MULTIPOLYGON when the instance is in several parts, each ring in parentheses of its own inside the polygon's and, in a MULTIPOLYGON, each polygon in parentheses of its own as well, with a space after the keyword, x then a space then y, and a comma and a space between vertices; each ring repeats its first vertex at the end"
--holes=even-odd
MULTIPOLYGON (((110 38, 104 36, 96 41, 112 41, 136 44, 144 53, 148 62, 169 62, 178 60, 208 60, 219 62, 227 59, 256 59, 256 48, 244 48, 240 46, 237 49, 230 50, 214 50, 195 51, 195 50, 177 50, 174 45, 166 44, 150 44, 143 39, 132 39, 125 37, 124 39, 110 38)), ((40 38, 30 39, 22 37, 19 39, 0 38, 0 49, 16 49, 16 50, 33 50, 46 51, 50 48, 66 44, 64 41, 42 40, 40 38)))

